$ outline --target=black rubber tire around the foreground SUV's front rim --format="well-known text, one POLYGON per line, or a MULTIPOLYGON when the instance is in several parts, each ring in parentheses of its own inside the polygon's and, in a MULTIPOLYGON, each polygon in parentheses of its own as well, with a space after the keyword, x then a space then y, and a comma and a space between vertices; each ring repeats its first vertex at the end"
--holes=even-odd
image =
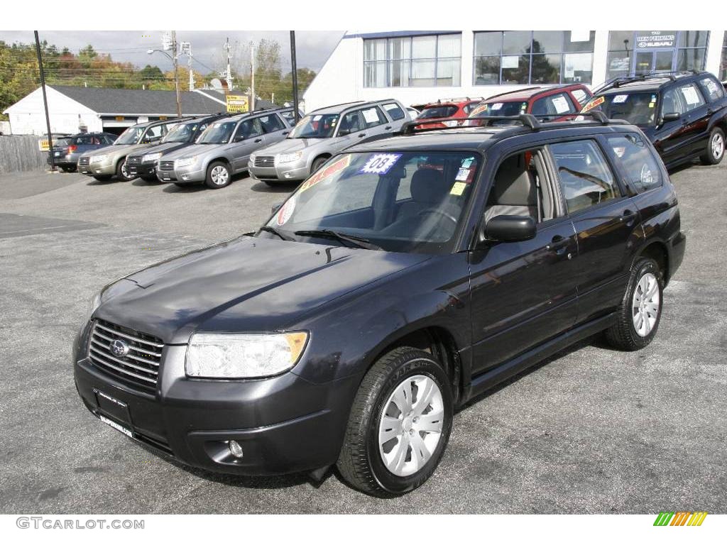
MULTIPOLYGON (((414 389, 411 392, 412 396, 419 395, 414 389)), ((414 404, 418 400, 417 397, 414 404)), ((414 490, 425 483, 439 464, 449 440, 453 412, 454 402, 449 379, 431 354, 412 347, 400 347, 388 352, 366 373, 353 400, 348 427, 337 461, 342 477, 353 487, 372 496, 392 497, 414 490), (395 389, 406 382, 407 378, 413 376, 424 376, 433 380, 441 392, 441 435, 430 459, 421 468, 411 475, 398 476, 387 469, 379 451, 379 421, 387 411, 385 405, 388 405, 390 395, 393 395, 395 389)), ((406 425, 413 426, 411 420, 406 425)), ((403 433, 406 435, 406 427, 403 433)), ((414 431, 410 429, 409 434, 414 435, 414 431)), ((407 445, 408 441, 407 439, 407 445)), ((396 439, 396 442, 395 445, 398 445, 399 439, 396 439)), ((396 447, 392 447, 392 452, 393 448, 396 447)), ((414 452, 409 446, 406 446, 406 449, 409 450, 404 451, 404 459, 411 461, 414 452)))

